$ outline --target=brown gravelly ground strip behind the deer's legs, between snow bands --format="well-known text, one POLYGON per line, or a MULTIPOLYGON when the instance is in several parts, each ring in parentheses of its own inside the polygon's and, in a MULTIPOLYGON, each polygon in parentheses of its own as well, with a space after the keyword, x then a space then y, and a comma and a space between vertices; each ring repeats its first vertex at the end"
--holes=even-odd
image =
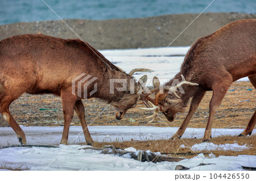
MULTIPOLYGON (((213 128, 245 128, 256 107, 255 89, 250 82, 235 82, 216 113, 213 128), (251 89, 251 90, 248 90, 251 89), (246 101, 247 100, 247 101, 246 101), (249 101, 248 101, 249 100, 249 101)), ((208 120, 209 101, 212 92, 207 92, 199 109, 193 116, 188 127, 205 128, 208 120)), ((138 105, 127 111, 122 120, 116 120, 114 108, 97 99, 84 100, 86 123, 89 125, 150 125, 155 127, 179 127, 186 113, 178 113, 174 122, 169 123, 162 115, 153 123, 148 123, 145 117, 151 112, 139 110, 138 105), (104 111, 103 111, 104 110, 104 111), (103 112, 102 112, 103 111, 103 112), (102 114, 100 115, 100 113, 102 114)), ((63 111, 60 97, 54 95, 23 94, 10 106, 10 112, 19 125, 26 126, 60 126, 63 125, 63 111)), ((72 125, 80 125, 75 115, 72 125)), ((9 124, 0 116, 0 127, 9 127, 9 124)))

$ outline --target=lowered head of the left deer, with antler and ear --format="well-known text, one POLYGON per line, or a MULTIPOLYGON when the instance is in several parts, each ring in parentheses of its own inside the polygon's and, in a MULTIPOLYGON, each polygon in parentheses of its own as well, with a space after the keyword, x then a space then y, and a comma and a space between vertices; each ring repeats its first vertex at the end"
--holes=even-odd
MULTIPOLYGON (((119 68, 120 69, 120 68, 119 68)), ((123 71, 122 69, 120 69, 123 71)), ((133 69, 130 71, 130 77, 137 71, 145 72, 145 71, 152 71, 150 69, 133 69)), ((134 85, 128 85, 127 90, 118 92, 118 100, 112 103, 112 106, 115 108, 115 118, 120 120, 122 119, 123 115, 125 115, 126 111, 130 108, 134 108, 139 99, 141 98, 141 94, 139 93, 147 82, 147 75, 143 75, 139 79, 138 82, 130 82, 134 83, 134 85), (133 90, 131 90, 133 89, 133 90)))

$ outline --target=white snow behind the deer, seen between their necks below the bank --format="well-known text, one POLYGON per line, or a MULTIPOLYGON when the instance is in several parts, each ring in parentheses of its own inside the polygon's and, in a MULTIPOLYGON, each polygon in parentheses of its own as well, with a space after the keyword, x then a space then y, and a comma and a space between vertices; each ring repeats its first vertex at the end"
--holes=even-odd
MULTIPOLYGON (((154 70, 146 73, 147 86, 152 86, 152 78, 159 78, 160 83, 168 82, 180 71, 180 66, 190 47, 158 47, 138 49, 112 49, 100 50, 100 52, 114 65, 129 73, 135 68, 147 68, 154 70)), ((145 73, 135 73, 139 79, 145 73)), ((247 77, 238 81, 249 81, 247 77)))

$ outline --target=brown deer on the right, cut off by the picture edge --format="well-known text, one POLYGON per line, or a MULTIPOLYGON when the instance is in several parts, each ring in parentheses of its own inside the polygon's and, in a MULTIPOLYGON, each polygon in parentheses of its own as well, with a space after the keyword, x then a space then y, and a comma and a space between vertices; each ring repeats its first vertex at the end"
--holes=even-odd
MULTIPOLYGON (((154 104, 154 108, 150 108, 155 110, 154 115, 151 116, 154 117, 153 120, 157 112, 161 111, 169 121, 174 121, 176 113, 184 112, 189 99, 192 98, 187 117, 172 136, 172 138, 180 138, 205 92, 213 91, 209 104, 209 120, 204 134, 204 141, 209 141, 213 117, 226 91, 232 82, 243 77, 248 77, 256 88, 256 19, 229 23, 211 35, 198 39, 188 50, 180 72, 164 86, 160 86, 158 78, 155 77, 153 81, 155 89, 151 91, 151 94, 155 92, 155 99, 150 98, 148 93, 142 95, 142 100, 147 103, 149 99, 154 104), (173 87, 175 80, 181 82, 173 87), (178 87, 182 88, 185 94, 175 92, 178 87), (175 94, 167 94, 167 90, 175 94)), ((148 107, 148 104, 146 106, 148 107)), ((256 111, 245 131, 239 136, 250 135, 255 123, 256 111)))

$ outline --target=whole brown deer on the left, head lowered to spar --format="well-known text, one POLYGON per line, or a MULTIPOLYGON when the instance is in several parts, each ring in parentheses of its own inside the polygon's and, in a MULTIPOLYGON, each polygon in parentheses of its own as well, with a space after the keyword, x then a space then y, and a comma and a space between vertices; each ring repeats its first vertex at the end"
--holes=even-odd
POLYGON ((24 132, 9 111, 11 102, 24 92, 61 96, 64 113, 61 144, 68 142, 74 110, 80 119, 86 142, 92 144, 81 99, 86 96, 88 99, 99 98, 111 103, 115 107, 116 118, 122 119, 126 111, 135 107, 140 99, 138 91, 146 83, 147 77, 144 75, 136 83, 132 74, 143 70, 135 69, 126 74, 81 40, 64 40, 45 35, 13 36, 0 41, 0 112, 14 129, 19 142, 26 144, 24 132), (92 79, 84 81, 81 77, 83 74, 93 77, 94 82, 89 84, 92 79), (87 83, 86 92, 78 90, 77 85, 72 90, 74 79, 82 81, 82 86, 87 83), (121 83, 111 85, 111 79, 127 80, 127 90, 118 91, 122 87, 121 83), (97 91, 90 95, 96 84, 97 91), (110 94, 110 87, 114 87, 113 94, 110 94))

